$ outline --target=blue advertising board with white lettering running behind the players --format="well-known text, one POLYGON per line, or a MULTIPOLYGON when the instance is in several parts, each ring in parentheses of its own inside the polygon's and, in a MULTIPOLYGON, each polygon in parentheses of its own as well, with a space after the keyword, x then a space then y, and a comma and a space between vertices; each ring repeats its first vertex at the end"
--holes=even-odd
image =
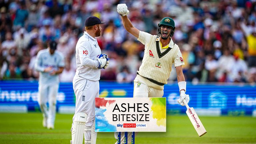
MULTIPOLYGON (((221 114, 251 115, 256 109, 256 87, 242 84, 187 84, 189 106, 202 109, 218 109, 221 114)), ((132 97, 133 83, 116 83, 100 81, 100 97, 132 97)), ((26 105, 28 110, 37 109, 37 81, 0 81, 0 105, 26 105)), ((177 103, 178 84, 164 87, 167 111, 185 112, 177 103)), ((59 106, 75 106, 72 83, 60 83, 57 96, 59 106)))

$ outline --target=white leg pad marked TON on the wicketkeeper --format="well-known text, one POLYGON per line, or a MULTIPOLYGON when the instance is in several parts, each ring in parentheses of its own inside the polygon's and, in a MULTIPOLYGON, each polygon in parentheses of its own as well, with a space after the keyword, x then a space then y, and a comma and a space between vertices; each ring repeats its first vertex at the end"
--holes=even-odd
POLYGON ((72 133, 72 141, 71 144, 83 144, 83 133, 84 126, 87 120, 87 114, 79 112, 74 118, 74 122, 72 124, 71 133, 72 133))

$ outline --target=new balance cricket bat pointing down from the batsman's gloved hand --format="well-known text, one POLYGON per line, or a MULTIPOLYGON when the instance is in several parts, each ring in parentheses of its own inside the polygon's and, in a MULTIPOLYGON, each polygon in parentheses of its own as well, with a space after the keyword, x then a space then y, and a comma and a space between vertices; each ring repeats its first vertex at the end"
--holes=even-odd
POLYGON ((184 104, 186 105, 187 107, 187 115, 188 115, 188 118, 190 119, 192 125, 194 126, 197 134, 200 136, 203 136, 204 134, 207 133, 207 131, 205 130, 202 122, 200 121, 199 117, 197 116, 195 110, 193 107, 189 107, 188 106, 188 103, 186 102, 186 100, 184 99, 183 100, 184 104))

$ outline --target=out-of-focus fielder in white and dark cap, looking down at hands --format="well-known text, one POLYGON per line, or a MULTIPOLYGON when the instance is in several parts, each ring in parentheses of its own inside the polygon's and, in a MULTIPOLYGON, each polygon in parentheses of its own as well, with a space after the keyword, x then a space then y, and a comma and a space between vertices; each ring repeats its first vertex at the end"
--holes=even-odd
POLYGON ((38 103, 43 113, 43 126, 48 129, 54 129, 59 74, 65 65, 63 55, 56 48, 57 43, 51 41, 47 49, 38 52, 35 63, 35 68, 39 71, 38 103), (49 109, 46 105, 47 100, 49 109))

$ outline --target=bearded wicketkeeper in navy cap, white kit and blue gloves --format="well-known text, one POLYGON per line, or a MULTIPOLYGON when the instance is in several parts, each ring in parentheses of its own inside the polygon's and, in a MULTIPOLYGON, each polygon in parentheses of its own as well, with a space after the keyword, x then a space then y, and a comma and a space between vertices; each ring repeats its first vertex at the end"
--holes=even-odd
POLYGON ((109 64, 106 54, 101 54, 95 37, 100 36, 101 22, 91 16, 85 20, 84 35, 76 44, 76 74, 73 89, 76 95, 76 109, 71 128, 71 144, 96 144, 95 97, 99 97, 100 69, 109 64))

